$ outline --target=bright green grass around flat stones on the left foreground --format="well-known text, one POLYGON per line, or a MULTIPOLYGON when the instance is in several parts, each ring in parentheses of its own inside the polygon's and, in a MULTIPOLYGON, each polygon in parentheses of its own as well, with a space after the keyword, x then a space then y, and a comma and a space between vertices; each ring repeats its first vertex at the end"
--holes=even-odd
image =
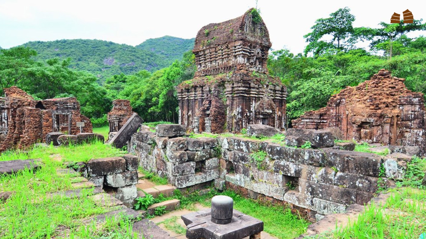
POLYGON ((78 176, 58 174, 62 162, 52 160, 52 154, 60 154, 62 159, 69 161, 81 161, 84 153, 90 157, 116 153, 107 147, 80 145, 68 148, 68 151, 65 147, 35 147, 28 153, 8 151, 1 154, 1 160, 40 158, 42 167, 36 172, 26 169, 14 175, 0 175, 0 191, 16 191, 14 196, 0 204, 0 238, 135 238, 132 223, 124 216, 109 218, 102 224, 84 222, 92 216, 117 209, 97 207, 90 197, 86 197, 92 194, 92 189, 83 189, 83 196, 79 198, 50 194, 72 189, 71 183, 78 176), (78 158, 72 160, 72 155, 78 155, 78 158))

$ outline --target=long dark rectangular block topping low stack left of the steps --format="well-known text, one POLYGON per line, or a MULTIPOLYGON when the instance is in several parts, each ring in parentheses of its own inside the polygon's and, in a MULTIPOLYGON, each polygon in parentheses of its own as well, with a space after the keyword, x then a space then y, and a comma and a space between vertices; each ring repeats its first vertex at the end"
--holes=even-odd
POLYGON ((87 167, 91 177, 118 174, 126 170, 126 160, 122 157, 90 159, 87 167))

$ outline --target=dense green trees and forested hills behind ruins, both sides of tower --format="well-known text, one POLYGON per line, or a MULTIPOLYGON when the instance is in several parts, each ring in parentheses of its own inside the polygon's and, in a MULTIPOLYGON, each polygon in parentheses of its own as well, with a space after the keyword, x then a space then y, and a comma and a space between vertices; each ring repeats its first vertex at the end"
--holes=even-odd
MULTIPOLYGON (((315 22, 312 32, 304 36, 308 46, 303 53, 293 54, 287 49, 271 52, 269 72, 288 88, 288 120, 324 107, 332 94, 368 80, 381 68, 406 78, 410 90, 426 93, 426 37, 406 35, 426 30, 423 20, 380 23, 379 28, 354 28, 354 20, 348 8, 339 9, 315 22), (359 48, 360 42, 369 46, 359 48)), ((40 42, 2 49, 0 86, 17 85, 37 99, 75 96, 82 113, 92 118, 94 125, 106 123, 114 99, 130 100, 145 121, 177 122, 175 87, 191 79, 196 68, 194 55, 186 51, 192 48, 193 39, 179 40, 178 44, 173 39, 152 39, 145 46, 131 48, 104 41, 60 40, 51 42, 61 44, 58 51, 56 46, 40 42), (179 60, 162 68, 162 64, 170 63, 165 57, 177 57, 175 52, 184 51, 181 58, 175 58, 179 60), (64 58, 68 56, 71 58, 64 58), (104 65, 108 57, 114 57, 109 73, 98 74, 108 68, 104 65), (120 66, 131 62, 138 62, 142 68, 120 66)))

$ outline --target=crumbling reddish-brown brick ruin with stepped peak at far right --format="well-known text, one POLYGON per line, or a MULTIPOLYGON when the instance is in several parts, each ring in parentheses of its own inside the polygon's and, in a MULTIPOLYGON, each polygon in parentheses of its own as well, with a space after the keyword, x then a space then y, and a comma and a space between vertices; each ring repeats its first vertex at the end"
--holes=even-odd
POLYGON ((333 95, 326 107, 293 120, 293 127, 338 127, 346 140, 419 146, 424 152, 423 94, 409 91, 404 80, 381 69, 370 80, 333 95))

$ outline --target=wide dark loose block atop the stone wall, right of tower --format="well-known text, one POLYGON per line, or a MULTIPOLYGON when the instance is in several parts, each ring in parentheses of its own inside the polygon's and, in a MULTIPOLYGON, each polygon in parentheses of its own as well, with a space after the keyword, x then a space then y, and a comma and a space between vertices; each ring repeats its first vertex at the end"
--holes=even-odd
POLYGON ((328 148, 334 146, 333 133, 329 129, 312 130, 289 128, 286 131, 285 144, 300 147, 305 142, 311 142, 312 148, 328 148))

